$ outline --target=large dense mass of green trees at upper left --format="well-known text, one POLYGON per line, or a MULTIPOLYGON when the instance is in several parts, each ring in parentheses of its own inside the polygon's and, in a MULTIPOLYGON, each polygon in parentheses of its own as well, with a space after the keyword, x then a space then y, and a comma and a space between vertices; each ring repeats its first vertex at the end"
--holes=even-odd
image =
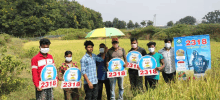
POLYGON ((101 13, 74 1, 0 0, 0 9, 1 32, 14 36, 41 36, 58 28, 103 27, 101 13))

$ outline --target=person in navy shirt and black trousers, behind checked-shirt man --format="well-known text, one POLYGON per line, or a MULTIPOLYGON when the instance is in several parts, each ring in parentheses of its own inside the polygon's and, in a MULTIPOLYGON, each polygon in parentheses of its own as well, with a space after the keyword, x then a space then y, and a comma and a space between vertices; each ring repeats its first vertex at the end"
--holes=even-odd
MULTIPOLYGON (((104 55, 105 48, 107 49, 105 44, 102 43, 99 45, 100 53, 97 55, 98 57, 101 57, 102 55, 104 55)), ((102 99, 103 84, 105 84, 106 93, 107 93, 107 100, 110 100, 110 81, 107 78, 106 59, 104 59, 104 61, 102 61, 100 63, 97 62, 96 65, 98 67, 98 70, 97 70, 98 86, 99 86, 98 100, 102 99)))

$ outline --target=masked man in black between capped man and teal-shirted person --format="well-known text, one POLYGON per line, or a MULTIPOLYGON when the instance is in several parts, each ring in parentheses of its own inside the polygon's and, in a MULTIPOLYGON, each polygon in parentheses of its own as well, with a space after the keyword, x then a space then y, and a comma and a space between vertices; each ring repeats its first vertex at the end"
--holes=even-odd
MULTIPOLYGON (((138 46, 138 41, 136 38, 131 38, 131 49, 130 51, 138 51, 142 54, 142 56, 145 56, 147 52, 145 51, 144 48, 141 48, 138 46)), ((131 89, 133 92, 133 95, 137 95, 138 92, 143 92, 143 77, 138 75, 138 70, 135 69, 129 69, 129 79, 130 79, 130 84, 131 84, 131 89)))

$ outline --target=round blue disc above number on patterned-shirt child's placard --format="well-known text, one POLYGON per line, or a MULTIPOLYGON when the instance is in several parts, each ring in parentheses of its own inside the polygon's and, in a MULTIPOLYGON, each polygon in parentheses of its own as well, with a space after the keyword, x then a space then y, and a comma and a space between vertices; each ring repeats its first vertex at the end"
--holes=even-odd
POLYGON ((69 68, 63 75, 65 82, 75 81, 78 82, 81 79, 81 72, 78 68, 69 68))

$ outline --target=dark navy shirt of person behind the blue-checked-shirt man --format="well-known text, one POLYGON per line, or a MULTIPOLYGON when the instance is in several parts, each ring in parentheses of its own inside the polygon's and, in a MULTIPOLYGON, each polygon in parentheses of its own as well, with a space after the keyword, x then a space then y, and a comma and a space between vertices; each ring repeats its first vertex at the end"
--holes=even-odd
MULTIPOLYGON (((98 57, 101 57, 101 54, 97 55, 98 57)), ((97 74, 98 74, 98 80, 107 80, 107 68, 106 68, 106 59, 102 62, 96 62, 96 66, 98 68, 97 74)))

